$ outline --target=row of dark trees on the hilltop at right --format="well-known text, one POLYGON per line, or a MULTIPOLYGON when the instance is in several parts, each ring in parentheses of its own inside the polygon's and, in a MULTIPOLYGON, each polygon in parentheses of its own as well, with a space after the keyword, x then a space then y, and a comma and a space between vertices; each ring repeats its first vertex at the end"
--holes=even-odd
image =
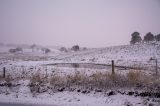
POLYGON ((140 43, 140 42, 150 42, 150 41, 160 41, 160 34, 153 35, 151 32, 148 32, 142 39, 139 32, 133 32, 131 34, 131 44, 140 43))

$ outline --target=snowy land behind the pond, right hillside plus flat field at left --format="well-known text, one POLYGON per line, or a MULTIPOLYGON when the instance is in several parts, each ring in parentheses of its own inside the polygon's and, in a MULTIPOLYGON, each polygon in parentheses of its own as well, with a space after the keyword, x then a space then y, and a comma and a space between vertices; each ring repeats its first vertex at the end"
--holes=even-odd
POLYGON ((52 63, 98 63, 110 65, 111 60, 115 60, 115 65, 117 66, 154 71, 155 61, 150 61, 150 58, 154 56, 158 59, 159 66, 160 43, 113 46, 78 52, 53 53, 49 55, 41 55, 36 52, 29 54, 0 53, 0 68, 3 66, 26 66, 26 68, 28 68, 52 63))

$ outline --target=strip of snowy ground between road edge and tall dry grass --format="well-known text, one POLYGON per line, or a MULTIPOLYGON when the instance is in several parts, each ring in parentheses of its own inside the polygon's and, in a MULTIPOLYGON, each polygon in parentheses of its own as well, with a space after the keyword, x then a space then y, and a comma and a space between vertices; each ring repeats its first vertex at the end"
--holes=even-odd
MULTIPOLYGON (((159 103, 153 102, 154 99, 116 94, 106 96, 103 93, 82 94, 77 92, 58 92, 54 94, 42 93, 32 97, 29 89, 22 88, 18 94, 1 94, 2 103, 23 103, 23 104, 44 104, 56 106, 150 106, 159 103)), ((158 99, 159 100, 159 99, 158 99)))

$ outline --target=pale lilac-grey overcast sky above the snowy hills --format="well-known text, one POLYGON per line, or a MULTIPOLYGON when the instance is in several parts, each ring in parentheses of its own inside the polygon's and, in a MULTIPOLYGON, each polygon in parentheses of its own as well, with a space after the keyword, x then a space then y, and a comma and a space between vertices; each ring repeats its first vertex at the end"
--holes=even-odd
POLYGON ((160 33, 160 0, 0 0, 0 42, 87 47, 160 33))

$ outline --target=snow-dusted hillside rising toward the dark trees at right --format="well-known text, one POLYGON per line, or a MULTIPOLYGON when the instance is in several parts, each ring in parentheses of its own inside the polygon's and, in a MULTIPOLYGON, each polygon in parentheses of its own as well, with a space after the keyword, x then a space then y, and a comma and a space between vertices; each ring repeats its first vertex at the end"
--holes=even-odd
MULTIPOLYGON (((154 70, 155 61, 150 58, 160 59, 160 43, 144 43, 136 45, 114 46, 88 50, 70 54, 63 58, 64 62, 87 62, 111 64, 154 70)), ((159 64, 159 62, 158 62, 159 64)))

